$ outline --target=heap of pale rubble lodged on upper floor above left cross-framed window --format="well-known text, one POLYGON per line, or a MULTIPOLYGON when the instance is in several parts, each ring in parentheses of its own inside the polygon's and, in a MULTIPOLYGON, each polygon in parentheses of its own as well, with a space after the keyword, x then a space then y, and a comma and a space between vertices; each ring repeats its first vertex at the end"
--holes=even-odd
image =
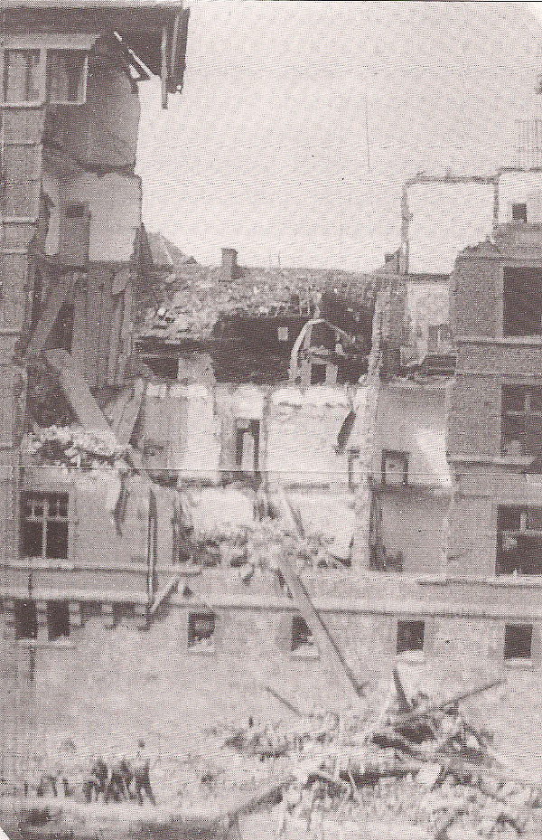
POLYGON ((24 451, 36 458, 39 464, 50 466, 128 468, 127 447, 115 444, 98 432, 70 426, 49 426, 29 434, 24 451))

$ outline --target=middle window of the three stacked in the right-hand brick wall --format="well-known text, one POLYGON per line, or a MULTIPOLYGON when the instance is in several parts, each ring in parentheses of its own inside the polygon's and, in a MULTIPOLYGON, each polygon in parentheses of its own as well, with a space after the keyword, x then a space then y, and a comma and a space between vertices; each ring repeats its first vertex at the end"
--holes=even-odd
POLYGON ((542 456, 542 388, 502 388, 500 446, 503 455, 542 456))

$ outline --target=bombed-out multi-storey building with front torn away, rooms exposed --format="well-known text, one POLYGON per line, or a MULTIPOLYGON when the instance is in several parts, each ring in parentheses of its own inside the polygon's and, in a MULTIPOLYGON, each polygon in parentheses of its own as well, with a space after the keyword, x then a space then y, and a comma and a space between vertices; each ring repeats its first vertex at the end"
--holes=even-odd
POLYGON ((181 87, 187 13, 81 7, 71 63, 42 6, 32 36, 31 6, 24 26, 9 13, 3 108, 0 594, 19 673, 50 703, 104 675, 118 691, 126 626, 156 668, 122 691, 173 699, 187 654, 334 701, 338 658, 538 665, 539 324, 517 311, 538 229, 513 217, 462 252, 451 324, 447 275, 400 255, 358 276, 255 272, 233 249, 158 265, 135 85, 181 87), (164 299, 145 321, 149 282, 164 299))

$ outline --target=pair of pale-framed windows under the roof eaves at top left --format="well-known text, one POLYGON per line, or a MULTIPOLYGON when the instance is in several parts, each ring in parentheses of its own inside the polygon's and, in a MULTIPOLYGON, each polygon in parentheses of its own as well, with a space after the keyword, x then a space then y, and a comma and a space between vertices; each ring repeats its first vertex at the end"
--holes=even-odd
POLYGON ((87 53, 81 50, 5 50, 6 104, 80 104, 85 100, 87 53))

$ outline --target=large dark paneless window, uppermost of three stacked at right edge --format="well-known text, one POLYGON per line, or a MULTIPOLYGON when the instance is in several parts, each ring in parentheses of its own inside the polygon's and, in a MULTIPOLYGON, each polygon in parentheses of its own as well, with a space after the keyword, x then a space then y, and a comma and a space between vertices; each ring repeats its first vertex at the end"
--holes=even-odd
POLYGON ((542 269, 504 269, 502 334, 542 334, 542 269))

